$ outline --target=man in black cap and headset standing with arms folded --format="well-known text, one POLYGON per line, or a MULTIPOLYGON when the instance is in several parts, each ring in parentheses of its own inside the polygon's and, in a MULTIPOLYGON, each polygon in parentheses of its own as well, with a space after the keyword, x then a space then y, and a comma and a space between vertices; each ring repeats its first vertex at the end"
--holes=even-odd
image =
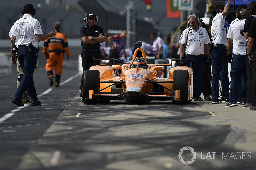
MULTIPOLYGON (((103 29, 100 26, 95 25, 95 21, 98 21, 98 17, 95 13, 88 13, 84 18, 85 25, 80 29, 81 46, 82 46, 82 67, 83 74, 81 78, 80 90, 83 91, 84 83, 84 71, 90 69, 94 65, 93 58, 100 58, 100 43, 106 41, 103 29), (87 24, 86 24, 87 22, 87 24)), ((100 64, 100 61, 96 60, 95 65, 100 64)), ((82 99, 82 93, 80 94, 82 99)))

